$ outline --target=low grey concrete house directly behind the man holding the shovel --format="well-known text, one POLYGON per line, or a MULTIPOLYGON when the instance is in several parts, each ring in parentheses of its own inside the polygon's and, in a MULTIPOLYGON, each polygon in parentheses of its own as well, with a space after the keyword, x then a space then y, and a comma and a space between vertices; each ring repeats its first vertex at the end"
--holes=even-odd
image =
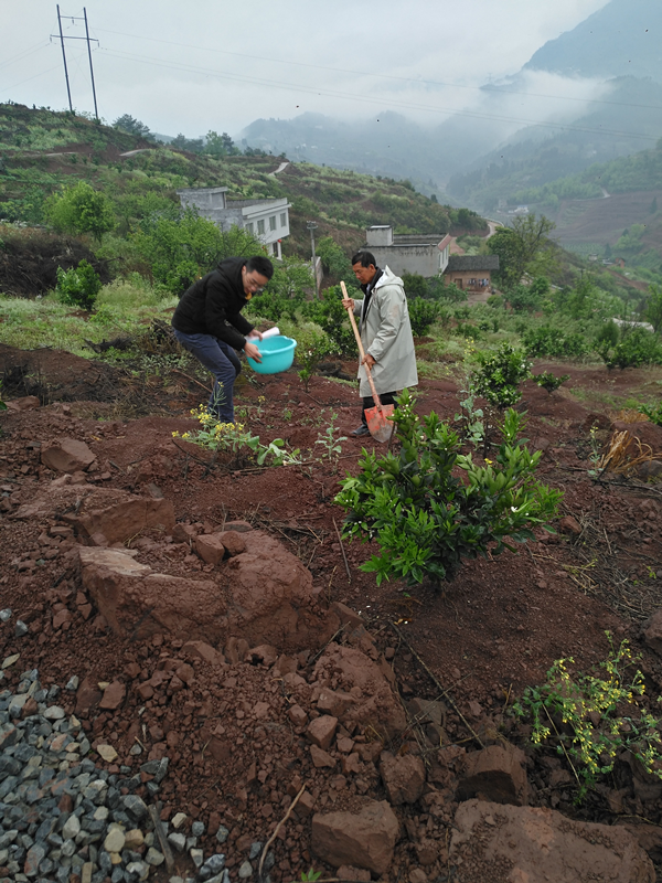
POLYGON ((365 248, 380 267, 388 266, 396 276, 417 273, 430 278, 444 273, 448 264, 450 236, 440 233, 395 235, 388 224, 365 231, 365 248))

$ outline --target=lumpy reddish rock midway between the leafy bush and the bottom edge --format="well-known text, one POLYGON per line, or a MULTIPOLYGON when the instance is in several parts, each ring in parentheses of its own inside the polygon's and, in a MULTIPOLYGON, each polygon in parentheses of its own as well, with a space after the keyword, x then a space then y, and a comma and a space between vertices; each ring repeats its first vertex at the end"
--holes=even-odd
POLYGON ((321 688, 340 689, 353 700, 341 714, 342 722, 371 724, 385 736, 402 733, 407 719, 392 685, 393 672, 384 662, 370 659, 354 647, 332 642, 314 667, 314 677, 321 688))

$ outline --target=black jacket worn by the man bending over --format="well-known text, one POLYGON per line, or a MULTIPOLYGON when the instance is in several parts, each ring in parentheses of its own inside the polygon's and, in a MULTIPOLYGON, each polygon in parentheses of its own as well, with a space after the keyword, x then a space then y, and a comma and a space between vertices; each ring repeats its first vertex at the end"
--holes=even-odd
POLYGON ((213 334, 243 350, 253 326, 241 311, 248 302, 242 281, 243 257, 228 257, 193 283, 181 297, 172 327, 184 334, 213 334))

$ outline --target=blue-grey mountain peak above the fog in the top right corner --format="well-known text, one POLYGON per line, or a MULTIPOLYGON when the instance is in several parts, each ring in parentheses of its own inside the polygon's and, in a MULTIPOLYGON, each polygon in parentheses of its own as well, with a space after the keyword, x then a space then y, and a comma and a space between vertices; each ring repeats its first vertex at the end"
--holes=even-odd
POLYGON ((662 3, 611 0, 572 31, 541 46, 523 70, 662 82, 662 3))

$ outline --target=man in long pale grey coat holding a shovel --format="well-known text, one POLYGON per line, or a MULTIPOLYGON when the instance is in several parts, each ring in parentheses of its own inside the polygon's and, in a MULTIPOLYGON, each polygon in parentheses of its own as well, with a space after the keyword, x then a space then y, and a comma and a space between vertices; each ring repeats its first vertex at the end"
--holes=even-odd
POLYGON ((392 405, 399 390, 416 386, 418 373, 403 280, 388 267, 380 269, 370 252, 357 252, 352 257, 352 269, 364 297, 363 300, 348 298, 343 307, 361 317, 365 357, 359 365, 359 393, 363 397, 363 412, 361 426, 352 435, 362 436, 370 433, 365 411, 375 405, 364 364, 372 372, 384 405, 392 405))

